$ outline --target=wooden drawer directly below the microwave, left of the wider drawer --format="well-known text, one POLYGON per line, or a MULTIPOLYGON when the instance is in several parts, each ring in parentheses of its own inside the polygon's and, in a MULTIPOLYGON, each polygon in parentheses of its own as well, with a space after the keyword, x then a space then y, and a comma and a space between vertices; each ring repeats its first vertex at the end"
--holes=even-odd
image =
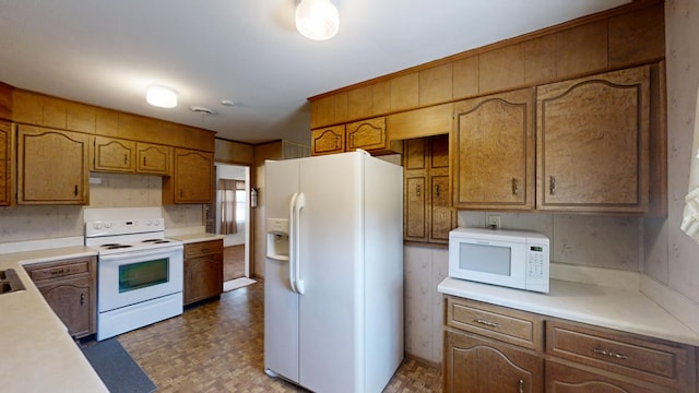
POLYGON ((531 349, 543 349, 537 314, 461 298, 447 298, 447 325, 531 349))

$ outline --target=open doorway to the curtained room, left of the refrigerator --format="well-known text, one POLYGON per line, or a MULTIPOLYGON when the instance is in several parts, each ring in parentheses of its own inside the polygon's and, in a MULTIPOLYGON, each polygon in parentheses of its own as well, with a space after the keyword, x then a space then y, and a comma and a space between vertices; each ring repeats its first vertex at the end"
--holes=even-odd
POLYGON ((250 167, 215 163, 216 203, 208 230, 223 235, 224 290, 250 282, 250 167))

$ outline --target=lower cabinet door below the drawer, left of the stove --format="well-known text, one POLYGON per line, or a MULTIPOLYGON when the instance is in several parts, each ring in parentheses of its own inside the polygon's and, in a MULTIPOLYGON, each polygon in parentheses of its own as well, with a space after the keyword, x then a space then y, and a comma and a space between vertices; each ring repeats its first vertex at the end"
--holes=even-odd
POLYGON ((95 332, 94 290, 88 276, 64 281, 48 281, 37 288, 61 322, 73 336, 85 336, 95 332))

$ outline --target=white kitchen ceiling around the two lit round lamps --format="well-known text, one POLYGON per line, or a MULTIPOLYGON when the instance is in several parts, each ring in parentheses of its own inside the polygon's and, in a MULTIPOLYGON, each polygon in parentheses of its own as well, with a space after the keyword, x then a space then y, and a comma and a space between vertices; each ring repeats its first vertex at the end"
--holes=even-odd
POLYGON ((627 2, 333 0, 340 32, 312 41, 294 27, 297 0, 0 0, 0 81, 229 140, 308 143, 307 97, 627 2), (149 84, 179 106, 149 106, 149 84))

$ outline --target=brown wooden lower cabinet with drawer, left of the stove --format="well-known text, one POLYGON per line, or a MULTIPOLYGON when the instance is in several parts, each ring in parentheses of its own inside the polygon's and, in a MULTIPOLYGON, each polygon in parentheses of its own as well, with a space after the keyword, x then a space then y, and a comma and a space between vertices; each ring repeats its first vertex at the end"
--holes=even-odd
POLYGON ((97 331, 95 257, 24 266, 68 332, 84 337, 97 331))

